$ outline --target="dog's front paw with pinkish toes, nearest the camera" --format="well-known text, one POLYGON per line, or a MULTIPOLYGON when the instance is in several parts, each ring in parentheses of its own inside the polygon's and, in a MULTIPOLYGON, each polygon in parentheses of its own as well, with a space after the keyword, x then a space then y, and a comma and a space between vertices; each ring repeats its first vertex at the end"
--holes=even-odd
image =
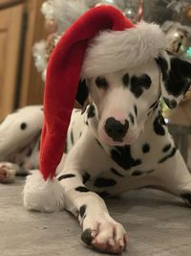
POLYGON ((100 218, 98 221, 84 220, 83 230, 82 241, 99 251, 119 254, 126 249, 126 231, 111 217, 100 218))

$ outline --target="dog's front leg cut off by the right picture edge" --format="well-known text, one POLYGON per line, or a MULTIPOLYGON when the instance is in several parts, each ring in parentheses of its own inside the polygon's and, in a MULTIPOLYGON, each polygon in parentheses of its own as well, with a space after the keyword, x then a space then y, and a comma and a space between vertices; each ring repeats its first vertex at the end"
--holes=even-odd
POLYGON ((166 157, 159 159, 159 168, 153 175, 158 178, 159 186, 184 199, 191 207, 191 174, 180 151, 175 151, 174 148, 166 157))

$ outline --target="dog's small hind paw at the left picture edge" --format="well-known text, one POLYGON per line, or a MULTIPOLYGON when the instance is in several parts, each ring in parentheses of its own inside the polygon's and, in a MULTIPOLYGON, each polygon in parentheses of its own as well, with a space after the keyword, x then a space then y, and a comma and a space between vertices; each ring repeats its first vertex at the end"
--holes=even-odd
POLYGON ((14 181, 16 170, 14 165, 8 162, 0 163, 0 182, 11 183, 14 181))

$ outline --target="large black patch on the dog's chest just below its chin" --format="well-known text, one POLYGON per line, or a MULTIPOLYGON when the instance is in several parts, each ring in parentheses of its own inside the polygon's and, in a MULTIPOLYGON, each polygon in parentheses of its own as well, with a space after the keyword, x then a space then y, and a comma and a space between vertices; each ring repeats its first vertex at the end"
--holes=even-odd
POLYGON ((129 145, 124 147, 115 147, 111 151, 112 159, 125 170, 141 164, 140 159, 134 159, 131 154, 131 148, 129 145))

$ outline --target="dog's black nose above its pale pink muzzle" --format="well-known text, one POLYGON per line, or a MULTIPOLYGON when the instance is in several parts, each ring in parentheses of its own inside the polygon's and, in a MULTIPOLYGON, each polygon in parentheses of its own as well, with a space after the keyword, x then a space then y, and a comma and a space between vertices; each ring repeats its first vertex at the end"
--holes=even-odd
POLYGON ((110 117, 106 120, 104 128, 109 137, 113 138, 114 141, 121 142, 129 128, 129 122, 125 120, 125 124, 122 125, 114 117, 110 117))

